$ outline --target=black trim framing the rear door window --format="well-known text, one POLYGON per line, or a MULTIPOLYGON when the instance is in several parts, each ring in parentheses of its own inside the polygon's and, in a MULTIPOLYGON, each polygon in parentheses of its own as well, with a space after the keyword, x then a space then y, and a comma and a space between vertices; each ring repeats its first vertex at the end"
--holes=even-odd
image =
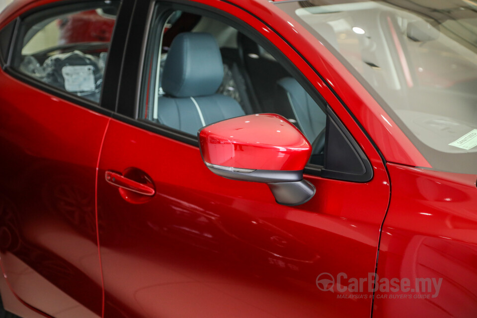
MULTIPOLYGON (((18 79, 32 87, 35 87, 37 89, 40 89, 42 91, 45 91, 46 93, 49 93, 51 95, 54 95, 54 96, 57 96, 61 99, 64 99, 66 101, 69 101, 69 102, 72 102, 76 105, 79 105, 79 106, 82 106, 84 108, 87 108, 89 110, 93 110, 97 113, 100 113, 102 115, 106 115, 106 116, 111 116, 112 115, 112 111, 114 110, 114 106, 116 104, 116 101, 114 101, 113 103, 113 108, 111 109, 111 107, 102 107, 104 105, 103 103, 103 98, 102 96, 104 95, 110 95, 110 94, 113 94, 113 95, 116 95, 116 88, 114 88, 114 92, 112 92, 112 89, 111 87, 114 87, 113 85, 108 85, 106 86, 106 83, 108 83, 109 81, 111 80, 108 80, 110 78, 112 78, 111 76, 108 77, 108 68, 113 68, 113 69, 120 69, 121 67, 121 63, 122 63, 122 55, 120 55, 120 60, 119 63, 116 61, 116 63, 112 64, 110 62, 110 56, 111 54, 109 54, 112 50, 111 48, 114 47, 115 45, 115 42, 119 42, 119 41, 115 41, 116 38, 118 39, 121 39, 121 38, 126 38, 126 34, 124 34, 124 32, 117 32, 117 25, 119 25, 119 23, 117 23, 118 21, 120 21, 120 15, 121 15, 121 12, 122 13, 122 18, 121 20, 124 20, 125 22, 127 22, 128 20, 130 21, 131 17, 132 17, 132 12, 131 10, 127 10, 125 9, 125 7, 127 7, 129 4, 129 6, 131 6, 131 4, 134 4, 134 2, 136 0, 119 0, 120 1, 120 6, 119 6, 119 10, 118 10, 118 16, 116 18, 116 21, 115 21, 115 25, 114 25, 114 30, 113 30, 113 33, 112 33, 112 36, 111 36, 111 42, 109 43, 109 49, 108 49, 108 58, 107 58, 107 61, 106 61, 106 68, 105 68, 105 73, 104 73, 104 77, 103 77, 103 89, 101 91, 101 97, 100 97, 100 101, 99 103, 96 103, 96 102, 93 102, 87 98, 83 98, 83 97, 80 97, 76 94, 73 94, 73 93, 70 93, 68 91, 65 91, 63 89, 60 89, 60 88, 57 88, 55 86, 52 86, 52 85, 48 85, 47 83, 44 83, 43 81, 39 80, 39 79, 35 79, 35 78, 32 78, 30 76, 28 76, 27 74, 24 74, 18 70, 16 70, 15 68, 12 67, 12 60, 14 58, 14 54, 17 53, 16 51, 18 50, 18 42, 21 41, 21 23, 24 21, 25 18, 29 17, 30 15, 33 15, 33 14, 36 14, 38 12, 41 12, 41 11, 50 11, 52 9, 55 9, 55 8, 58 8, 59 10, 61 10, 61 8, 65 7, 65 6, 75 6, 75 8, 73 9, 73 11, 76 11, 78 8, 91 8, 94 6, 94 4, 102 4, 102 5, 105 5, 105 2, 104 1, 100 1, 100 0, 65 0, 65 1, 58 1, 58 2, 53 2, 53 3, 48 3, 48 4, 45 4, 45 5, 41 5, 41 6, 38 6, 38 7, 35 7, 27 12, 24 12, 22 14, 20 14, 19 16, 17 16, 12 22, 15 23, 15 28, 14 28, 14 31, 13 31, 13 34, 12 34, 12 37, 11 37, 11 40, 10 40, 10 43, 9 43, 9 50, 8 50, 8 55, 7 55, 7 60, 6 61, 3 61, 4 64, 2 65, 2 69, 5 73, 7 73, 8 75, 10 75, 11 77, 13 77, 14 79, 18 79), (121 34, 123 33, 123 34, 121 34), (106 87, 109 87, 108 89, 106 89, 106 87)), ((100 6, 100 5, 99 5, 100 6)), ((68 10, 70 11, 70 10, 68 10)), ((12 23, 10 22, 10 23, 12 23)), ((119 81, 119 79, 117 79, 117 81, 119 81)), ((115 86, 117 87, 117 85, 115 86)))

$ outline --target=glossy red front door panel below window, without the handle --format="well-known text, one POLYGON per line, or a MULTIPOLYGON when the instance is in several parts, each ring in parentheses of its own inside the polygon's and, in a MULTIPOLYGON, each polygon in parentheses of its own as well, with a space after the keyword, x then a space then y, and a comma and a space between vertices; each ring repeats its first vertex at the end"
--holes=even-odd
POLYGON ((156 195, 131 204, 98 180, 105 317, 369 317, 371 299, 316 286, 321 272, 374 270, 389 180, 369 156, 372 181, 306 175, 317 194, 287 207, 265 184, 215 175, 197 147, 112 120, 99 174, 134 166, 156 195))

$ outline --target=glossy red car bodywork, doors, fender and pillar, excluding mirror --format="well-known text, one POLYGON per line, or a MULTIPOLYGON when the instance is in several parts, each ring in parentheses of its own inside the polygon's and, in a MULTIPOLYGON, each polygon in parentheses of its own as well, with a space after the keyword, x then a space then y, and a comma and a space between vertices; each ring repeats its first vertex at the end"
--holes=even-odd
MULTIPOLYGON (((0 27, 53 1, 16 0, 0 27)), ((370 317, 372 310, 373 317, 475 317, 476 175, 417 168, 431 167, 324 45, 275 4, 194 2, 235 15, 279 48, 366 153, 373 179, 305 175, 315 197, 278 205, 264 184, 214 175, 197 147, 0 71, 0 147, 8 154, 0 159, 0 257, 15 296, 52 316, 73 304, 81 317, 370 317), (118 188, 106 179, 111 171, 148 180, 155 195, 118 188), (442 297, 390 299, 378 290, 374 299, 339 299, 338 290, 315 284, 323 272, 367 277, 376 266, 381 278, 443 277, 442 297)), ((5 300, 4 284, 0 290, 5 300)), ((17 313, 18 306, 5 303, 17 313)))

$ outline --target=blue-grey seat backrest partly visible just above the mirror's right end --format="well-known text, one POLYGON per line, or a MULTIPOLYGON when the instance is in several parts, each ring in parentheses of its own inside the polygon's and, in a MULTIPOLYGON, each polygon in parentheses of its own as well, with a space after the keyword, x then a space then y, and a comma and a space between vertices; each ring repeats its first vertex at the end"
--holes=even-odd
POLYGON ((287 93, 290 107, 303 134, 313 143, 326 126, 326 114, 296 79, 280 79, 278 85, 287 93))

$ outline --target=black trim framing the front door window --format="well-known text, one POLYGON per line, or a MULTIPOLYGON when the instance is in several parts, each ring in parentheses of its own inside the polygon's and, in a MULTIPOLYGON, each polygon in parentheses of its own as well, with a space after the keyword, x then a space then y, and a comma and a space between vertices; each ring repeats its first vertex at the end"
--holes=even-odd
MULTIPOLYGON (((238 6, 235 3, 231 3, 227 0, 224 0, 224 2, 232 4, 232 5, 240 8, 244 12, 247 12, 248 14, 254 16, 257 19, 259 19, 258 17, 253 15, 251 12, 241 8, 240 6, 238 6)), ((150 132, 153 132, 153 133, 157 133, 157 134, 162 135, 164 137, 168 137, 168 138, 174 139, 176 141, 179 141, 179 142, 191 145, 191 146, 198 147, 198 141, 195 138, 195 136, 191 136, 187 133, 184 133, 182 131, 173 129, 173 128, 165 126, 165 125, 152 123, 148 120, 142 120, 142 119, 138 118, 139 107, 140 107, 140 97, 141 97, 140 96, 141 82, 143 80, 143 76, 144 76, 143 71, 144 71, 144 67, 146 65, 146 63, 145 63, 146 46, 148 44, 147 42, 148 42, 148 36, 149 36, 149 31, 150 31, 149 28, 150 28, 151 23, 152 23, 152 15, 153 15, 152 13, 155 11, 156 3, 161 3, 163 5, 165 4, 165 6, 163 8, 161 8, 161 10, 163 10, 162 12, 167 11, 167 10, 171 10, 171 9, 172 10, 183 10, 183 11, 187 11, 187 12, 191 12, 191 13, 196 13, 196 14, 200 14, 200 15, 209 16, 209 17, 212 17, 212 18, 217 19, 219 21, 223 21, 223 22, 235 27, 240 32, 243 32, 243 30, 246 30, 243 33, 245 33, 252 40, 257 42, 265 50, 270 52, 275 58, 278 57, 277 61, 283 67, 285 67, 285 69, 295 79, 297 79, 299 81, 299 83, 305 88, 305 90, 310 94, 310 96, 312 96, 313 99, 322 101, 322 104, 326 107, 326 109, 322 109, 322 110, 325 113, 328 114, 327 107, 329 107, 329 105, 324 100, 324 98, 318 93, 318 91, 313 86, 313 84, 297 69, 296 66, 293 65, 293 63, 288 58, 286 58, 283 55, 282 52, 280 52, 275 47, 275 45, 273 45, 273 43, 271 43, 266 38, 263 38, 260 35, 256 35, 257 31, 254 28, 251 28, 247 24, 244 24, 243 21, 239 20, 236 16, 234 16, 234 15, 228 13, 228 12, 225 12, 223 10, 217 9, 215 7, 206 5, 206 4, 191 2, 191 1, 187 1, 187 0, 174 0, 173 2, 171 2, 171 0, 151 0, 150 5, 149 5, 149 9, 147 11, 147 16, 148 16, 147 19, 144 18, 144 16, 146 15, 145 14, 146 12, 140 12, 139 10, 137 12, 138 16, 133 17, 133 21, 142 20, 142 21, 144 21, 144 23, 146 23, 146 25, 144 25, 144 27, 143 27, 143 31, 144 31, 143 36, 142 36, 143 41, 142 41, 141 45, 134 46, 134 49, 129 48, 129 50, 126 53, 126 56, 125 56, 125 59, 127 59, 128 57, 131 57, 131 56, 136 56, 136 57, 139 56, 140 57, 137 61, 137 64, 134 64, 136 74, 134 74, 134 75, 130 74, 130 76, 127 76, 127 77, 123 76, 123 78, 121 79, 121 87, 124 87, 125 79, 126 78, 130 79, 131 77, 134 76, 134 78, 136 78, 136 80, 137 80, 136 85, 134 85, 135 86, 135 91, 131 92, 131 90, 129 90, 129 92, 127 92, 127 91, 122 91, 120 89, 119 94, 124 96, 126 99, 121 98, 121 97, 118 98, 117 113, 113 113, 113 115, 112 115, 113 118, 121 120, 121 121, 126 122, 128 124, 131 124, 133 126, 142 128, 144 130, 147 130, 147 131, 150 131, 150 132), (138 50, 141 50, 141 51, 137 52, 138 50), (134 98, 130 97, 131 94, 134 96, 134 98), (129 100, 128 100, 128 95, 129 95, 129 100), (127 106, 128 104, 129 104, 129 107, 127 106), (134 107, 131 107, 131 104, 134 104, 134 107)), ((263 20, 261 20, 261 19, 259 19, 259 20, 263 24, 269 26, 263 20)), ((297 51, 288 41, 286 41, 273 28, 270 27, 270 29, 272 29, 277 35, 279 35, 282 38, 282 40, 284 40, 287 44, 289 44, 290 47, 293 48, 297 52, 297 54, 299 54, 302 57, 302 59, 316 72, 316 74, 321 79, 323 79, 322 76, 318 73, 318 71, 311 66, 311 64, 303 57, 303 55, 301 55, 299 53, 299 51, 297 51)), ((130 69, 132 69, 132 68, 133 67, 130 66, 130 69)), ((324 81, 324 79, 323 79, 323 81, 324 81)), ((326 82, 326 81, 324 81, 324 82, 326 82)), ((358 123, 356 118, 350 113, 349 109, 344 105, 342 99, 339 98, 339 96, 334 92, 334 90, 332 90, 331 87, 328 86, 328 88, 338 98, 338 100, 345 107, 345 109, 348 111, 348 113, 352 116, 352 118, 355 120, 355 122, 358 123)), ((319 104, 320 103, 318 103, 318 105, 319 104)), ((331 109, 331 108, 329 108, 329 109, 331 109)), ((328 116, 329 116, 329 114, 328 114, 328 116)), ((334 118, 335 118, 335 120, 338 119, 336 116, 334 116, 334 118)), ((350 182, 369 182, 373 178, 373 174, 374 174, 373 169, 372 169, 372 165, 371 165, 369 159, 366 157, 365 153, 361 150, 361 148, 359 147, 357 142, 354 140, 352 135, 347 131, 347 129, 344 127, 344 125, 340 122, 339 122, 338 125, 341 129, 344 129, 343 133, 346 135, 347 138, 350 139, 349 142, 351 144, 353 144, 353 147, 355 148, 355 150, 357 148, 360 151, 360 154, 362 155, 362 156, 360 156, 360 159, 364 161, 363 164, 366 166, 367 171, 362 176, 353 175, 353 176, 350 176, 349 178, 346 178, 344 175, 341 175, 337 179, 346 180, 346 181, 350 181, 350 182)), ((368 139, 372 142, 372 140, 370 139, 369 135, 365 132, 363 127, 359 123, 358 123, 358 125, 361 128, 361 130, 363 131, 363 133, 365 133, 366 137, 368 137, 368 139)), ((379 150, 377 149, 376 145, 373 142, 372 142, 372 144, 373 144, 374 148, 379 153, 379 150)), ((383 159, 381 153, 379 153, 379 154, 380 154, 381 158, 383 159)), ((383 162, 385 162, 385 161, 383 161, 383 162)), ((308 164, 305 167, 304 172, 306 174, 320 176, 322 169, 323 169, 323 166, 308 164)), ((328 178, 336 178, 336 177, 329 176, 328 178)))

